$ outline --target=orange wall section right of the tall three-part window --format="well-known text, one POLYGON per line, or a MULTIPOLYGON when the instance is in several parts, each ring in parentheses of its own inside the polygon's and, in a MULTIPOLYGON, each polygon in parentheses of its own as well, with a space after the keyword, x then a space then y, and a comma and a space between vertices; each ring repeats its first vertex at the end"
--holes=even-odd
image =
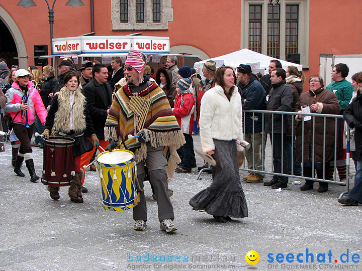
POLYGON ((310 0, 307 81, 319 73, 319 54, 362 54, 361 10, 361 0, 310 0))

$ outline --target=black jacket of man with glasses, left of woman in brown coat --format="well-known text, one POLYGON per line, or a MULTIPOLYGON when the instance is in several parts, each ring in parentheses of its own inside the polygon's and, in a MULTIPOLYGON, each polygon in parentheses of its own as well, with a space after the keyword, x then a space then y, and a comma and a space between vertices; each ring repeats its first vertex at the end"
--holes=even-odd
MULTIPOLYGON (((278 84, 273 84, 272 87, 273 88, 270 90, 269 93, 266 110, 283 112, 291 111, 293 92, 291 88, 286 84, 286 80, 282 80, 278 84)), ((282 133, 282 127, 283 133, 289 132, 289 121, 287 115, 266 113, 264 121, 265 133, 272 133, 272 127, 274 133, 282 133)))

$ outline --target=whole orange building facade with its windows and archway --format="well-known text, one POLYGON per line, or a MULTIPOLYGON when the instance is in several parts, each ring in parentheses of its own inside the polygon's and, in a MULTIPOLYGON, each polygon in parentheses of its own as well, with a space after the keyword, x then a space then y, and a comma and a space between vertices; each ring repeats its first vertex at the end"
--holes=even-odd
MULTIPOLYGON (((243 48, 283 60, 300 54, 307 78, 318 74, 319 54, 362 53, 360 0, 82 1, 76 9, 65 6, 66 0, 55 3, 54 38, 141 32, 169 37, 170 53, 202 60, 243 48)), ((32 58, 13 57, 34 56, 34 45, 48 45, 50 54, 48 7, 45 0, 29 9, 18 2, 0 2, 0 57, 25 68, 34 65, 32 58)))

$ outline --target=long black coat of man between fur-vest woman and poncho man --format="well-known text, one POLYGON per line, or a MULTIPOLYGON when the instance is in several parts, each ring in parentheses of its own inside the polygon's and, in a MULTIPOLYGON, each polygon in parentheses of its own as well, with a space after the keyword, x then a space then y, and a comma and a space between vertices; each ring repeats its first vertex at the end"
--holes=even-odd
MULTIPOLYGON (((108 116, 107 109, 112 105, 112 89, 106 82, 107 88, 104 88, 93 77, 91 81, 83 88, 83 94, 87 101, 89 115, 92 118, 94 129, 99 140, 104 140, 104 127, 108 116)), ((88 134, 87 136, 89 136, 88 134)))

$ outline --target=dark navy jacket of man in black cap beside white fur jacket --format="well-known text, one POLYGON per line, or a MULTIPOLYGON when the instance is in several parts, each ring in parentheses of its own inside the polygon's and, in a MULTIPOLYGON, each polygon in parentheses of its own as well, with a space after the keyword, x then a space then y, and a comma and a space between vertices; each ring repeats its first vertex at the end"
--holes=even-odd
MULTIPOLYGON (((241 102, 243 110, 265 110, 266 92, 260 82, 251 76, 249 82, 243 86, 241 91, 241 102), (246 101, 244 102, 244 99, 246 101)), ((243 116, 244 133, 253 133, 262 131, 262 114, 245 112, 243 116), (254 117, 254 131, 253 131, 254 117)))

